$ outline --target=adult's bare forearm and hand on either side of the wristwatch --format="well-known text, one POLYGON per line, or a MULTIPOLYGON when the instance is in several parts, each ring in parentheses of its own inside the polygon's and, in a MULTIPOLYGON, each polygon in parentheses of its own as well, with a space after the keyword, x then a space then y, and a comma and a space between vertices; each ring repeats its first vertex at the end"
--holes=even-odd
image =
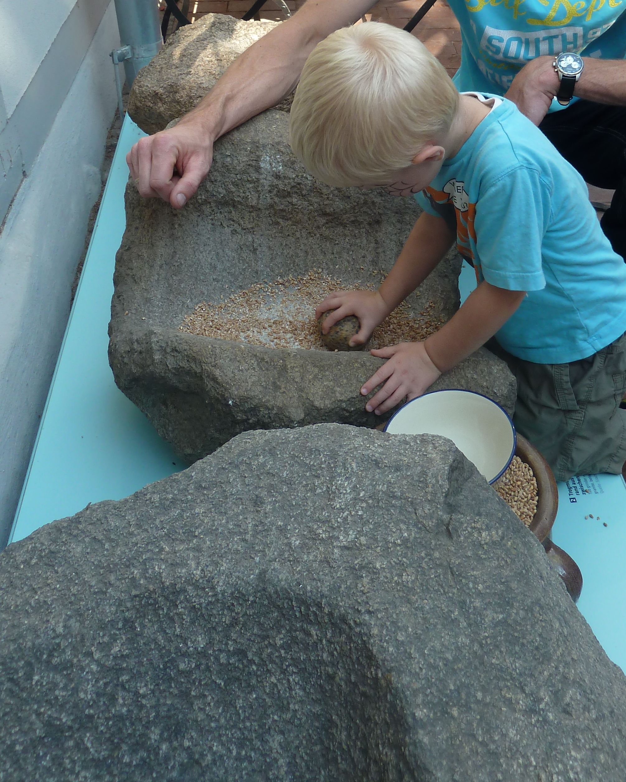
MULTIPOLYGON (((531 60, 513 79, 505 97, 517 104, 535 125, 546 113, 559 91, 553 56, 531 60)), ((584 57, 585 68, 574 86, 574 95, 610 106, 626 106, 626 60, 584 57)))

